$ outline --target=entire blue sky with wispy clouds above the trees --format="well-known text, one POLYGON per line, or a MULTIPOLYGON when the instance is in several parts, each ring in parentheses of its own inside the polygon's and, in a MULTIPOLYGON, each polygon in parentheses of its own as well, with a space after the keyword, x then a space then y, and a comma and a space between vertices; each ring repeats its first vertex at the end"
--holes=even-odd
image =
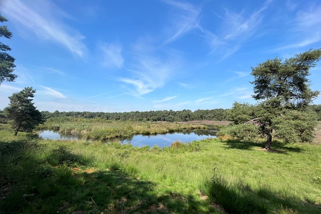
POLYGON ((0 109, 27 86, 51 112, 231 108, 255 103, 251 66, 321 47, 317 0, 1 0, 0 12, 18 75, 0 109))

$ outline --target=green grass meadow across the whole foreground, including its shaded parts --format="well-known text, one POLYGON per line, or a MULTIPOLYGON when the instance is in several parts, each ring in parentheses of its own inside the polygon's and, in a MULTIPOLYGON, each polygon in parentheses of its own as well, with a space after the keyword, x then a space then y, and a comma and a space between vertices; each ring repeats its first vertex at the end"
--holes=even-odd
POLYGON ((161 149, 0 127, 0 213, 320 213, 321 146, 206 139, 161 149), (215 168, 215 172, 213 169, 215 168))

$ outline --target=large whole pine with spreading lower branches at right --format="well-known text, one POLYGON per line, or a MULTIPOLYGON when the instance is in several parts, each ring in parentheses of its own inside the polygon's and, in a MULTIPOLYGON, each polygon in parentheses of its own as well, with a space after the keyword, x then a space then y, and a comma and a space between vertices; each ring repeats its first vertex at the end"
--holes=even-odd
POLYGON ((275 58, 252 67, 252 97, 259 103, 234 103, 230 119, 237 126, 228 132, 245 139, 244 125, 254 123, 257 132, 266 136, 266 149, 271 148, 273 135, 285 142, 311 141, 316 118, 307 107, 319 92, 310 89, 307 77, 320 58, 321 49, 309 50, 284 61, 275 58), (246 115, 243 119, 242 113, 246 115))

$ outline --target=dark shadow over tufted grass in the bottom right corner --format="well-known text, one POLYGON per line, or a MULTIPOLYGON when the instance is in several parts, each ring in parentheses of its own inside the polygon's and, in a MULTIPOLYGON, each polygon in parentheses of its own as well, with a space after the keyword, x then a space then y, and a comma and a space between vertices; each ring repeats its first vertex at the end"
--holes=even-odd
POLYGON ((274 192, 267 185, 254 190, 241 180, 233 182, 224 176, 213 177, 205 181, 202 191, 228 213, 321 213, 321 206, 315 201, 274 192))

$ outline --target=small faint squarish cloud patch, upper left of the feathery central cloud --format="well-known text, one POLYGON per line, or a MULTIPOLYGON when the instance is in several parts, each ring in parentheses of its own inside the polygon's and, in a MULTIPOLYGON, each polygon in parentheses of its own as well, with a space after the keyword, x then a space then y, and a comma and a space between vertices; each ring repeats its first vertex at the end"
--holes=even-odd
POLYGON ((122 47, 117 44, 100 44, 99 49, 102 52, 101 64, 106 68, 121 68, 124 59, 121 55, 122 47))

